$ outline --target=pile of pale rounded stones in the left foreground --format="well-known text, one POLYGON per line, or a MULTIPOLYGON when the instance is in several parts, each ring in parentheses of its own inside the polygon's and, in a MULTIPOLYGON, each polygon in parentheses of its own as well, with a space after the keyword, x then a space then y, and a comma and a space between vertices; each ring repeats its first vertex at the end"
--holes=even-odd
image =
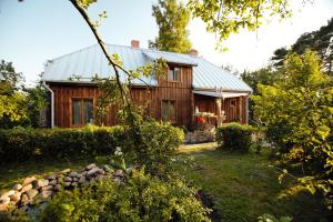
POLYGON ((49 200, 53 193, 60 190, 71 190, 75 186, 83 186, 103 178, 113 178, 122 183, 124 174, 122 170, 113 170, 108 165, 102 168, 94 163, 89 164, 82 172, 65 169, 57 174, 42 179, 29 176, 21 184, 16 184, 12 190, 0 193, 0 211, 7 211, 9 205, 27 210, 29 205, 49 200))

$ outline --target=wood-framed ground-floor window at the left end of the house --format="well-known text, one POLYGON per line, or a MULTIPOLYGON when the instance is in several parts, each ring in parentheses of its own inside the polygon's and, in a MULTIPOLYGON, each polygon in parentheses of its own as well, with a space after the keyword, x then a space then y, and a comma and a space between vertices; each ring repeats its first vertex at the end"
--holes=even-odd
POLYGON ((93 115, 92 99, 75 98, 72 99, 72 124, 84 125, 92 123, 93 115))

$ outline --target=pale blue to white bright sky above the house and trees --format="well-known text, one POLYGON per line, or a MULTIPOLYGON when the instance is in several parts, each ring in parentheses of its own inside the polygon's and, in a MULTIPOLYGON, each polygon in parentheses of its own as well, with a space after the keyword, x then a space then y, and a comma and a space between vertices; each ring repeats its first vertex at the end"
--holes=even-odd
MULTIPOLYGON (((302 7, 292 0, 291 19, 272 20, 256 32, 242 31, 223 46, 228 52, 215 50, 215 36, 205 31, 199 19, 191 20, 189 38, 201 57, 214 64, 234 70, 255 70, 268 64, 275 49, 290 47, 304 32, 317 30, 333 17, 333 0, 313 0, 302 7)), ((104 42, 130 46, 132 39, 148 48, 148 40, 158 36, 151 16, 155 0, 99 0, 89 14, 107 11, 99 28, 104 42)), ((95 43, 90 29, 68 0, 0 0, 0 60, 10 61, 22 72, 28 85, 38 80, 47 60, 71 53, 95 43)))

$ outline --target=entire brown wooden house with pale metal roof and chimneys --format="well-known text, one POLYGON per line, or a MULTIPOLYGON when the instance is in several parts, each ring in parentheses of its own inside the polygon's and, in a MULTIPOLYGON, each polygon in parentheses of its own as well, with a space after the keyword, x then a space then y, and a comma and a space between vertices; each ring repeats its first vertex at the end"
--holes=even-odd
MULTIPOLYGON (((192 50, 189 54, 140 49, 138 41, 131 47, 108 44, 110 54, 117 53, 123 68, 133 70, 147 62, 162 58, 168 63, 168 77, 133 81, 131 93, 139 104, 147 105, 147 113, 157 120, 175 125, 192 127, 199 115, 219 125, 236 121, 248 123, 248 101, 252 89, 234 74, 225 71, 192 50)), ((50 92, 50 127, 72 128, 93 123, 93 108, 98 105, 100 90, 91 78, 114 74, 99 46, 48 61, 42 80, 50 92)), ((125 74, 121 73, 122 80, 125 74)), ((117 124, 117 110, 105 115, 105 125, 117 124)))

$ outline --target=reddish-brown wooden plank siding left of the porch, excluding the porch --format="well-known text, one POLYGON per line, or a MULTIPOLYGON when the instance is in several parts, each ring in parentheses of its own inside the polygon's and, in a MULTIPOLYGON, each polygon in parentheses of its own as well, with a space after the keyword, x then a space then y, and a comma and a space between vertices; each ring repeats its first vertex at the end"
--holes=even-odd
MULTIPOLYGON (((147 114, 161 120, 161 103, 163 100, 176 101, 176 125, 191 125, 194 112, 191 105, 192 97, 192 68, 181 67, 181 80, 168 81, 159 79, 159 87, 150 88, 132 87, 131 94, 135 103, 147 105, 147 114)), ((72 125, 72 99, 93 99, 93 107, 98 105, 98 98, 101 91, 93 84, 61 84, 49 83, 54 92, 54 125, 59 128, 70 128, 72 125)), ((117 124, 117 108, 111 107, 103 119, 104 125, 117 124)))

